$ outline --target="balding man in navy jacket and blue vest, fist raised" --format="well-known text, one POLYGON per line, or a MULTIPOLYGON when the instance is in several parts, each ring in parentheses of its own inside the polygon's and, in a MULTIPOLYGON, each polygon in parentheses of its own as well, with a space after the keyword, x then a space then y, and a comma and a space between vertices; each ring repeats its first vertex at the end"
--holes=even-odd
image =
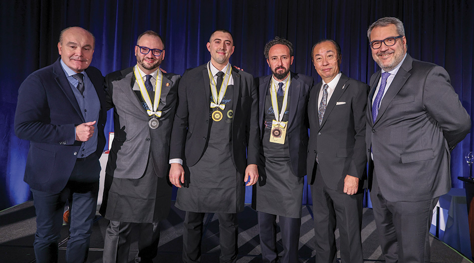
POLYGON ((105 145, 103 77, 89 67, 94 36, 80 27, 61 31, 61 58, 29 75, 18 90, 15 134, 30 141, 24 181, 36 211, 37 263, 58 261, 62 214, 69 200, 67 262, 85 262, 105 145))

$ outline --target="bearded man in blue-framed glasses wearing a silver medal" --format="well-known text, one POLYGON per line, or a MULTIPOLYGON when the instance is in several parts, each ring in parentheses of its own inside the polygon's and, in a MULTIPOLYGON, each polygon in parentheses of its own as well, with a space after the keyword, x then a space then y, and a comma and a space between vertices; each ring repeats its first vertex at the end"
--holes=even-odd
POLYGON ((139 235, 135 262, 151 263, 171 205, 168 154, 180 76, 159 69, 165 44, 154 31, 138 36, 135 55, 137 65, 105 77, 115 128, 100 209, 110 220, 105 263, 128 262, 132 231, 139 235))

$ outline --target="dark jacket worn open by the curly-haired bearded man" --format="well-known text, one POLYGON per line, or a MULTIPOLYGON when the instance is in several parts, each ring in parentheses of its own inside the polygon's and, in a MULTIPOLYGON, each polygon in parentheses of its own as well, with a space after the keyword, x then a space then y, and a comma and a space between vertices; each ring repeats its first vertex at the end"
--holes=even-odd
MULTIPOLYGON (((258 120, 260 123, 260 137, 263 137, 265 123, 265 99, 270 88, 273 75, 258 78, 259 109, 258 120)), ((313 86, 313 79, 302 74, 290 73, 291 85, 288 89, 289 113, 288 127, 288 148, 290 154, 291 170, 298 177, 306 175, 306 153, 308 148, 308 115, 307 105, 309 90, 313 86)), ((265 154, 263 151, 262 155, 265 154)), ((271 153, 270 153, 271 154, 271 153)), ((263 157, 263 156, 262 156, 263 157)))

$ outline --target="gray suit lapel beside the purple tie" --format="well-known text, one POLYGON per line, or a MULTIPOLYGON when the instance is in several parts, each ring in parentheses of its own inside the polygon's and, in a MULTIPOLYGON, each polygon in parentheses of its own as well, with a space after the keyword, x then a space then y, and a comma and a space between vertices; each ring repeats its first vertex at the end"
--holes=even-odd
MULTIPOLYGON (((385 92, 384 97, 382 98, 382 102, 380 103, 379 113, 377 114, 377 119, 375 119, 374 125, 380 120, 380 118, 384 115, 385 111, 387 110, 389 104, 395 98, 395 96, 400 92, 405 82, 410 77, 409 70, 412 69, 412 62, 413 59, 407 54, 405 61, 403 62, 402 66, 395 75, 392 83, 388 87, 387 92, 385 92)), ((377 86, 376 86, 377 87, 377 86)), ((371 107, 372 108, 372 107, 371 107)), ((371 115, 372 115, 372 111, 371 115)))

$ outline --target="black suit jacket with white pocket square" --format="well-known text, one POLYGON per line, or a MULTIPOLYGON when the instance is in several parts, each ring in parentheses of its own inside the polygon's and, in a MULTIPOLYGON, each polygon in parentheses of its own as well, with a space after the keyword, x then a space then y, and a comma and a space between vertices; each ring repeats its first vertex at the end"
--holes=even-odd
MULTIPOLYGON (((366 178, 365 168, 365 112, 367 84, 342 74, 327 102, 324 117, 319 125, 319 93, 322 82, 316 84, 309 95, 308 116, 310 126, 307 169, 308 179, 314 183, 317 165, 324 183, 333 190, 343 190, 344 178, 351 175, 366 178), (316 154, 319 164, 316 163, 316 154)), ((362 187, 360 187, 362 188, 362 187)))

